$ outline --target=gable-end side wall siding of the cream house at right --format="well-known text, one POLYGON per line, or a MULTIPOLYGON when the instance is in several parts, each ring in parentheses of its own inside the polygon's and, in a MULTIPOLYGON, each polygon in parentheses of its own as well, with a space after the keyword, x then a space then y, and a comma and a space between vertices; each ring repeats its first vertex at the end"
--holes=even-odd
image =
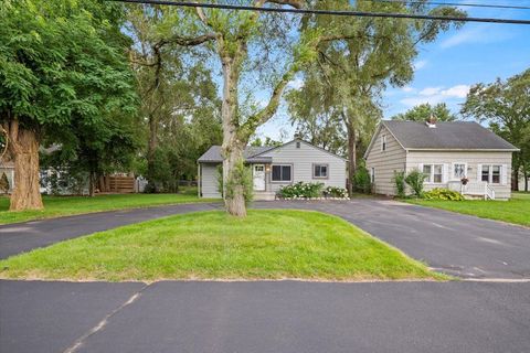
POLYGON ((375 180, 373 192, 383 195, 394 195, 394 171, 405 169, 405 150, 384 126, 375 136, 374 143, 367 156, 367 169, 374 169, 375 180), (381 149, 381 136, 386 136, 386 150, 381 149))

